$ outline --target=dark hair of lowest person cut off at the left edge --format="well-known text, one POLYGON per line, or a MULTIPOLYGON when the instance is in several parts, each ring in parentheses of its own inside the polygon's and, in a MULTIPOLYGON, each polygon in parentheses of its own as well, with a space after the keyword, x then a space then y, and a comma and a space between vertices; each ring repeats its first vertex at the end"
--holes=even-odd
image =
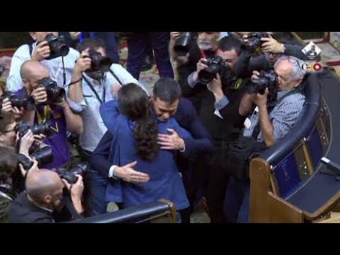
POLYGON ((0 181, 11 177, 18 166, 18 156, 13 148, 0 146, 0 181))

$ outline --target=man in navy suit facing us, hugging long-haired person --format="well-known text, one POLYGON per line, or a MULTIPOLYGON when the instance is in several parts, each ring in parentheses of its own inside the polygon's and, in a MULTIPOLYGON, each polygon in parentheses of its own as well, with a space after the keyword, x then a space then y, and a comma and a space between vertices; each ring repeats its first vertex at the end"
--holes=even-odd
MULTIPOLYGON (((194 176, 193 173, 188 173, 188 171, 193 171, 190 168, 190 162, 195 161, 197 157, 211 153, 214 149, 209 132, 200 122, 191 101, 181 98, 181 86, 174 79, 159 79, 154 84, 151 102, 152 111, 159 120, 165 121, 174 117, 179 125, 188 130, 188 132, 191 132, 193 136, 193 138, 183 140, 174 130, 169 130, 169 135, 159 135, 161 149, 171 149, 179 152, 179 158, 181 159, 179 167, 183 174, 183 182, 186 186, 188 200, 192 206, 196 198, 198 181, 187 179, 189 176, 194 176)), ((108 161, 111 142, 112 135, 110 132, 106 132, 98 147, 89 158, 91 168, 98 171, 98 174, 91 173, 91 215, 106 212, 105 193, 108 181, 113 181, 111 177, 118 177, 130 182, 149 180, 148 176, 144 173, 133 169, 133 162, 126 166, 115 167, 115 176, 112 176, 112 164, 108 161)), ((186 213, 186 219, 182 218, 182 222, 188 222, 189 219, 190 212, 186 213)))

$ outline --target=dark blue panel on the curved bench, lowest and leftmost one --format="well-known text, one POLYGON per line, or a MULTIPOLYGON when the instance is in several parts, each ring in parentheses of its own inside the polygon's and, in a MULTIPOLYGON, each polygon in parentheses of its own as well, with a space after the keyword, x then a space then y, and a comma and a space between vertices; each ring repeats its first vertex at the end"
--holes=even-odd
POLYGON ((273 175, 282 198, 287 198, 301 185, 302 180, 294 152, 290 152, 285 159, 273 167, 273 175))

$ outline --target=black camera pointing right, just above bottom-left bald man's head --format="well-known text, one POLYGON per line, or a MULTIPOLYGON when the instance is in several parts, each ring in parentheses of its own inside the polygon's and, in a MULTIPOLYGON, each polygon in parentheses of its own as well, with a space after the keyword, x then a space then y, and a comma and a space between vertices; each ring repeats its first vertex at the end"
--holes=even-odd
MULTIPOLYGON (((38 162, 38 166, 43 166, 53 161, 52 149, 50 146, 43 147, 37 152, 31 154, 30 157, 35 158, 35 160, 38 162)), ((28 159, 28 157, 23 154, 18 154, 18 163, 22 164, 23 169, 26 171, 28 171, 33 166, 33 162, 31 162, 30 159, 28 159)))

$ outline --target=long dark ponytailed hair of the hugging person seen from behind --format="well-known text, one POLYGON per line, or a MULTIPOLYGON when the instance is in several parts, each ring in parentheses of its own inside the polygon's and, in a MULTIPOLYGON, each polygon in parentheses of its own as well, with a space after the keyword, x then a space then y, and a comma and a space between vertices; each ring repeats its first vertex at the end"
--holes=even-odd
POLYGON ((133 136, 137 154, 145 160, 152 160, 159 152, 157 144, 158 124, 150 114, 150 100, 145 91, 136 84, 127 84, 118 91, 120 113, 136 122, 133 136))

